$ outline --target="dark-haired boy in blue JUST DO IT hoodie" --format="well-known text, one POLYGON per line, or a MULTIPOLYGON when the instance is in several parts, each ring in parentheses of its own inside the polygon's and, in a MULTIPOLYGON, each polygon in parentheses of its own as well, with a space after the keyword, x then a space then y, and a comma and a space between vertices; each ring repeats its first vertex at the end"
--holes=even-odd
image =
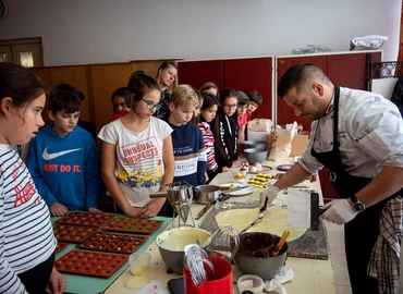
POLYGON ((78 96, 54 89, 48 111, 52 123, 30 140, 27 167, 54 217, 69 210, 101 213, 99 152, 91 135, 77 126, 80 110, 78 96))

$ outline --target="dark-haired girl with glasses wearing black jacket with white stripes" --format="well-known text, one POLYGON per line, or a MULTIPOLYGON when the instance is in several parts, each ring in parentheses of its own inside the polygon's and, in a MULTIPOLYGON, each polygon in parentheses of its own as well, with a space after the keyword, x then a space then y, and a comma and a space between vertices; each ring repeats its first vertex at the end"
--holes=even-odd
POLYGON ((237 168, 237 105, 240 97, 233 88, 224 88, 220 93, 221 108, 211 122, 212 134, 216 139, 216 160, 221 168, 237 168))

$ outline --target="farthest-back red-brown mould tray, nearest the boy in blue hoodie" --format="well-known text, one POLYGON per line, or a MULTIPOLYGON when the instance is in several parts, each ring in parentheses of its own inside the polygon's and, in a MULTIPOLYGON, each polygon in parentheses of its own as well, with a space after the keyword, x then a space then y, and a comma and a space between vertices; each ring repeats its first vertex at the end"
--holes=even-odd
POLYGON ((70 212, 69 215, 57 220, 56 223, 100 228, 113 218, 114 216, 105 213, 97 215, 89 212, 70 212))

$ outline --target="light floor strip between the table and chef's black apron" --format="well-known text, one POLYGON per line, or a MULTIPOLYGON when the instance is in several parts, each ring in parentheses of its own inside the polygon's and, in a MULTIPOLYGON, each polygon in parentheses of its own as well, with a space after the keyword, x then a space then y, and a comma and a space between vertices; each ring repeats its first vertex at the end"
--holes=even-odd
POLYGON ((338 294, 352 294, 344 252, 344 226, 325 222, 338 294))

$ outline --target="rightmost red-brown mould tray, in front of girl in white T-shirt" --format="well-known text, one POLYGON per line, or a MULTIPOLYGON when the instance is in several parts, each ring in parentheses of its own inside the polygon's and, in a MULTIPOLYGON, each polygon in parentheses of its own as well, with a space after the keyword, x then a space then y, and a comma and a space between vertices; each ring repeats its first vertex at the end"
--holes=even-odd
POLYGON ((152 234, 163 221, 135 218, 114 218, 101 228, 105 231, 152 234))

